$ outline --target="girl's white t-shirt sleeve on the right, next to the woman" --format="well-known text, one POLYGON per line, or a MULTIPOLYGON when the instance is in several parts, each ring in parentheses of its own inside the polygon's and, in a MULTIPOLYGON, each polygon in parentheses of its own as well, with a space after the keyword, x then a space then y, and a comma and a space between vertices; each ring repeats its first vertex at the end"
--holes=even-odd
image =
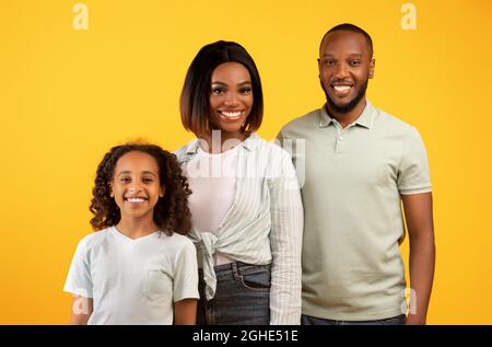
POLYGON ((194 243, 186 242, 175 257, 173 298, 174 302, 183 299, 198 299, 197 251, 194 243))

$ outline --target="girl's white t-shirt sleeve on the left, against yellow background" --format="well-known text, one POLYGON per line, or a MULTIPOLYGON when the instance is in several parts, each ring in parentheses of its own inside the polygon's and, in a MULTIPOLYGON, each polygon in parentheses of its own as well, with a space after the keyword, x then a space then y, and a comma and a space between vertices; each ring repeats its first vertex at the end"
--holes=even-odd
POLYGON ((63 291, 83 298, 93 298, 93 281, 91 277, 91 259, 87 239, 82 239, 77 246, 72 264, 65 282, 63 291))

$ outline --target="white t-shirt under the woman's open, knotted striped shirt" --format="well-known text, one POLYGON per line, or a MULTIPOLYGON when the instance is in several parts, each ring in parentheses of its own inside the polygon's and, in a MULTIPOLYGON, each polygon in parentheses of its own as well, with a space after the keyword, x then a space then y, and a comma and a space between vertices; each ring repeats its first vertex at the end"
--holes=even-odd
MULTIPOLYGON (((198 232, 214 233, 234 201, 237 148, 216 154, 198 148, 197 155, 184 165, 192 192, 189 197, 191 222, 198 232)), ((213 254, 213 261, 214 265, 234 262, 221 252, 213 254)))

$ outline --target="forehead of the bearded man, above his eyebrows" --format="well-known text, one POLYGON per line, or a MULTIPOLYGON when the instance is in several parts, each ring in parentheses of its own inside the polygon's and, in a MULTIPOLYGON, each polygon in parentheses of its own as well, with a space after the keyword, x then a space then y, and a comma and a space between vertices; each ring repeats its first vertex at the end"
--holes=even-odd
POLYGON ((371 48, 364 35, 348 31, 336 31, 326 35, 319 47, 319 55, 371 55, 371 48))

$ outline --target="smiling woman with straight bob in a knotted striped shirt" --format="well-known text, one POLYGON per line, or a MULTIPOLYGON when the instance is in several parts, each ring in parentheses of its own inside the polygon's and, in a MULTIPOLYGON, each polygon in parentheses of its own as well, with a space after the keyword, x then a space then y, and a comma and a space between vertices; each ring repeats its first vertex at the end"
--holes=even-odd
POLYGON ((194 194, 198 324, 300 324, 303 208, 291 158, 255 131, 261 83, 238 44, 204 46, 180 97, 198 139, 177 151, 194 194))

